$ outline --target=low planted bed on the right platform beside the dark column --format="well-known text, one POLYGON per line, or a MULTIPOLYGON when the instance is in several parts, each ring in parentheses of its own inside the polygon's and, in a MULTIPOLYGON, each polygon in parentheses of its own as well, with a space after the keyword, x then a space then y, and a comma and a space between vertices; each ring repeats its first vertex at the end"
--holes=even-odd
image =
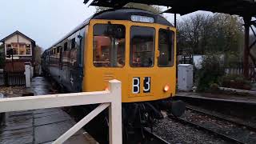
POLYGON ((223 76, 221 78, 221 83, 223 87, 234 89, 250 90, 252 87, 250 81, 238 74, 228 74, 223 76))

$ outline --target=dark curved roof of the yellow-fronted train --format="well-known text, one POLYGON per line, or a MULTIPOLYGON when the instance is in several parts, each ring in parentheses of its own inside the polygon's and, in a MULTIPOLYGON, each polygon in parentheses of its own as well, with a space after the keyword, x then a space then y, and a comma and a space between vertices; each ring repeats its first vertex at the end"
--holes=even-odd
MULTIPOLYGON (((75 27, 74 30, 71 30, 70 33, 66 34, 64 37, 58 40, 58 42, 55 42, 54 45, 50 46, 50 48, 58 45, 58 43, 70 37, 70 35, 74 34, 76 31, 81 30, 84 26, 86 26, 90 22, 91 19, 112 19, 112 20, 129 20, 130 21, 131 15, 141 15, 141 16, 151 17, 151 18, 154 18, 154 23, 158 23, 166 26, 173 26, 170 22, 166 20, 166 18, 163 18, 161 15, 154 14, 146 10, 134 9, 134 8, 103 10, 97 14, 94 14, 90 18, 87 18, 84 22, 82 22, 80 25, 75 27)), ((48 48, 47 50, 49 50, 50 48, 48 48)))

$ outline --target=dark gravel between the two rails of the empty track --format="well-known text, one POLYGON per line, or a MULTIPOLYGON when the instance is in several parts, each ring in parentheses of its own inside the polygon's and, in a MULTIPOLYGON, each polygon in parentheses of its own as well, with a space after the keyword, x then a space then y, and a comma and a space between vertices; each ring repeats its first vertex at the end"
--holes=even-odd
POLYGON ((214 118, 206 114, 195 112, 194 110, 186 110, 186 114, 182 116, 190 122, 194 122, 200 126, 225 134, 231 138, 238 139, 241 142, 254 144, 256 142, 255 131, 246 129, 245 126, 238 126, 233 122, 227 122, 219 118, 214 118))

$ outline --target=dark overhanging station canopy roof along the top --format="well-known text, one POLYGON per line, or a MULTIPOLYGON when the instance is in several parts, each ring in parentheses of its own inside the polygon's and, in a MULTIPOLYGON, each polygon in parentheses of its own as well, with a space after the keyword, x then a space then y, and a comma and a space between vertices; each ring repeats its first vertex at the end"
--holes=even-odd
MULTIPOLYGON (((85 3, 89 0, 84 0, 85 3)), ((242 17, 256 16, 256 0, 94 0, 90 6, 122 7, 129 2, 146 5, 170 6, 166 13, 190 14, 197 10, 237 14, 242 17)))

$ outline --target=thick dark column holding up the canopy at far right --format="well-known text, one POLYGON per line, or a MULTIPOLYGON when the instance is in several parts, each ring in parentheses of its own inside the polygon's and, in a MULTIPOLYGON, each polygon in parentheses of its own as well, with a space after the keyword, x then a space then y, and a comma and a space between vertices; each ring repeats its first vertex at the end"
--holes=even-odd
POLYGON ((251 17, 245 16, 243 17, 243 21, 245 22, 245 45, 243 51, 243 76, 245 78, 249 78, 249 55, 250 55, 250 46, 249 46, 249 32, 250 32, 250 19, 251 17))

